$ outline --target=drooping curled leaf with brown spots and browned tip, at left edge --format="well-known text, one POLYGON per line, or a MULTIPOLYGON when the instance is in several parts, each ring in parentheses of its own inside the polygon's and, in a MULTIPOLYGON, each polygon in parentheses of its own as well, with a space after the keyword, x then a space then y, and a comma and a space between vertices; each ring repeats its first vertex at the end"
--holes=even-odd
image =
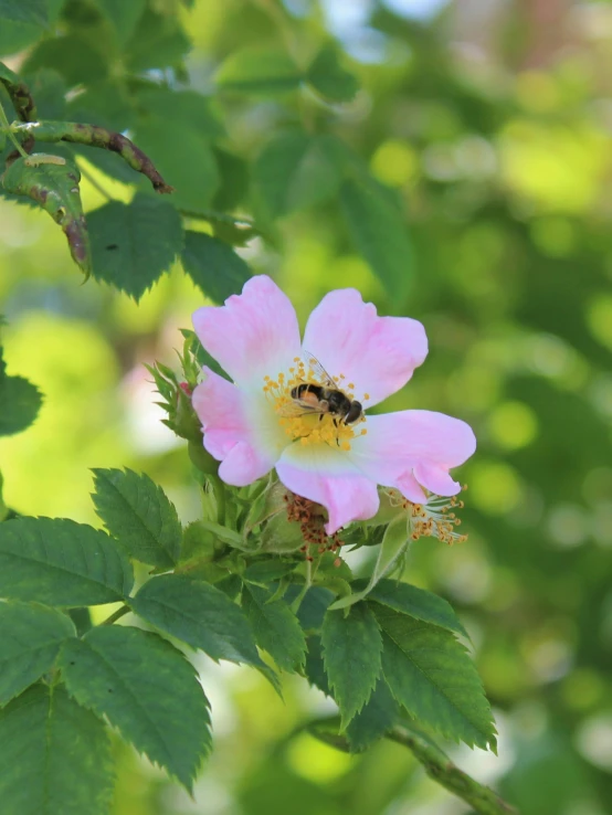
POLYGON ((92 271, 92 251, 73 161, 50 154, 32 154, 12 162, 2 177, 7 192, 27 195, 49 212, 65 234, 72 260, 85 277, 92 271))

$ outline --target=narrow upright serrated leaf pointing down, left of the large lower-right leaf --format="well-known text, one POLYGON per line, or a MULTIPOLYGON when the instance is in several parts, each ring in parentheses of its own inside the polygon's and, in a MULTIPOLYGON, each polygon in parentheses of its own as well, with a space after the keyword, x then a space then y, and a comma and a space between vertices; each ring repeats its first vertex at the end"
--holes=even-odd
POLYGON ((366 603, 328 611, 321 629, 323 657, 342 728, 370 698, 380 676, 382 641, 377 620, 366 603))

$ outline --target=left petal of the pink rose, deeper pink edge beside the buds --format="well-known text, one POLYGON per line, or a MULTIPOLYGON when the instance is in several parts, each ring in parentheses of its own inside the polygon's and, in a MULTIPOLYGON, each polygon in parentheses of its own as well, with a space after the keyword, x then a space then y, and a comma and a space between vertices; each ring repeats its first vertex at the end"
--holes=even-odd
POLYGON ((251 395, 203 368, 205 380, 193 391, 193 409, 204 432, 204 447, 222 462, 220 477, 244 487, 268 473, 287 440, 263 392, 251 395))

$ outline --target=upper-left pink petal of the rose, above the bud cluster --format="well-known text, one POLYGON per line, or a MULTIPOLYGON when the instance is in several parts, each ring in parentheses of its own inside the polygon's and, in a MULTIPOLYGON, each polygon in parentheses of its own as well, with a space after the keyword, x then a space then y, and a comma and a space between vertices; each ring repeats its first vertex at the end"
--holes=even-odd
POLYGON ((224 306, 199 308, 193 327, 205 350, 239 383, 275 377, 299 356, 295 309, 266 275, 247 281, 224 306))

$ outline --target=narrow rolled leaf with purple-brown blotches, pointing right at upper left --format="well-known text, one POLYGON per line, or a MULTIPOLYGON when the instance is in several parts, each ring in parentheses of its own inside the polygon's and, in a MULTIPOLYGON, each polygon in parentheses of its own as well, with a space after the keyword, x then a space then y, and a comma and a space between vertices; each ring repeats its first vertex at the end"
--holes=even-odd
POLYGON ((78 121, 25 121, 13 123, 11 130, 13 134, 30 136, 39 141, 71 141, 118 152, 134 170, 149 179, 156 192, 173 191, 139 147, 120 133, 108 130, 106 127, 78 121))

